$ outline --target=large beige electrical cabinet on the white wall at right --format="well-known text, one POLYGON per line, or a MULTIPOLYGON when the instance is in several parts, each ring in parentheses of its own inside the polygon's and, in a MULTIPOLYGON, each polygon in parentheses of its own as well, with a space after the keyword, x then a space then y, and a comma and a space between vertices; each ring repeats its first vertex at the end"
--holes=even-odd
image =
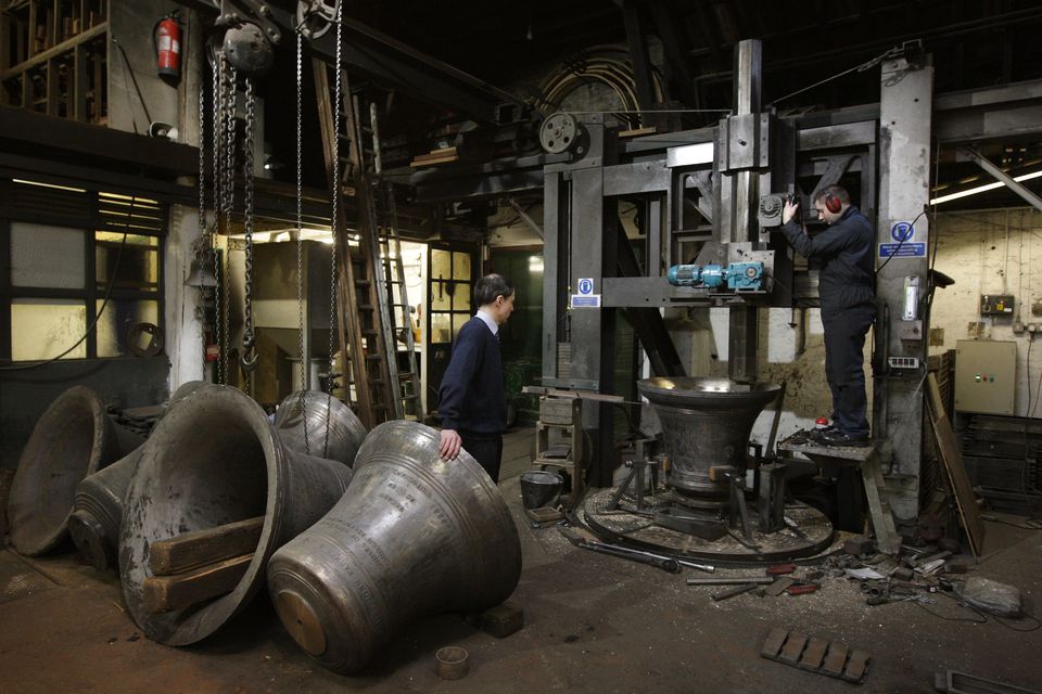
POLYGON ((1017 343, 961 339, 955 343, 955 409, 982 414, 1013 414, 1017 343))

